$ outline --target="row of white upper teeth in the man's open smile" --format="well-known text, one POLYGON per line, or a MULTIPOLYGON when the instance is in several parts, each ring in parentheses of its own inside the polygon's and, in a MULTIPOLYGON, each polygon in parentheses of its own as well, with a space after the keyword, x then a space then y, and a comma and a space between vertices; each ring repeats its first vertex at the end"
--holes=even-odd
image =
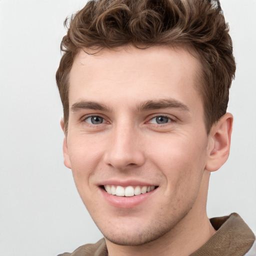
POLYGON ((109 194, 117 196, 133 196, 144 194, 146 192, 152 191, 155 186, 115 186, 115 185, 104 185, 105 190, 109 194))

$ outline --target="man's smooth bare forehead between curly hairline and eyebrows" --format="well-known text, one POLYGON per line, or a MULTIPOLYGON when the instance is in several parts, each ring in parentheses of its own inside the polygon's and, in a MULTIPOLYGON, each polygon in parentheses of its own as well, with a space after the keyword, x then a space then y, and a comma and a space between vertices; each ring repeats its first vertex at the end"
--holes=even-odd
POLYGON ((195 89, 199 68, 199 61, 182 48, 126 46, 95 54, 80 50, 70 71, 69 106, 79 97, 113 104, 167 96, 200 101, 195 89))

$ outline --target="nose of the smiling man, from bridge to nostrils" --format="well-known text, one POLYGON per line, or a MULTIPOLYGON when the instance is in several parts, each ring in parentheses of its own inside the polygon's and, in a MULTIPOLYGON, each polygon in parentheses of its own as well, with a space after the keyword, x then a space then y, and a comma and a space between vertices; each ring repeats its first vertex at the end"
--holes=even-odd
POLYGON ((145 161, 142 144, 142 134, 136 128, 116 126, 109 137, 104 162, 120 170, 141 166, 145 161))

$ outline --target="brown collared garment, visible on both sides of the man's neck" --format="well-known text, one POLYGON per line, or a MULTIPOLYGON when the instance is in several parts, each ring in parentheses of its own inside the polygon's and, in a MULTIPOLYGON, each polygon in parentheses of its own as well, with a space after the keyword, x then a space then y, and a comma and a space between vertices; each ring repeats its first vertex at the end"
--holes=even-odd
MULTIPOLYGON (((252 246, 255 236, 237 213, 211 218, 210 222, 217 231, 189 256, 256 256, 256 243, 252 246)), ((102 238, 58 256, 107 256, 107 248, 102 238)))

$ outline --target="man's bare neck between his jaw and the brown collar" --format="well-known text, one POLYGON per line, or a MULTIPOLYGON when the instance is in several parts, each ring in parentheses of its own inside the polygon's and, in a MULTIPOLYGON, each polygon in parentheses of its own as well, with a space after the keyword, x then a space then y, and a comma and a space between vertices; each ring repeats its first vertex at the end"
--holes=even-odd
POLYGON ((215 232, 206 214, 209 172, 204 171, 193 207, 171 230, 139 246, 123 246, 106 240, 108 256, 187 256, 203 245, 215 232), (203 207, 202 207, 203 205, 203 207))

